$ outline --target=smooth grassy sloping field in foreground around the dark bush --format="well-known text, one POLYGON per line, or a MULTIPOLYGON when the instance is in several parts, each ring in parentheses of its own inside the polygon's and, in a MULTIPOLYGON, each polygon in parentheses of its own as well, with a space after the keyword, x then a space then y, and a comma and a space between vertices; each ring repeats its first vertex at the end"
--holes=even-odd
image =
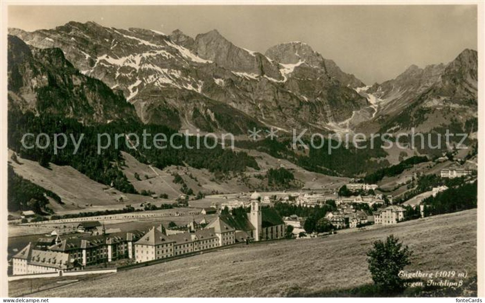
POLYGON ((394 234, 414 251, 407 271, 476 274, 476 209, 328 238, 234 247, 35 294, 36 297, 312 295, 372 283, 366 252, 394 234))

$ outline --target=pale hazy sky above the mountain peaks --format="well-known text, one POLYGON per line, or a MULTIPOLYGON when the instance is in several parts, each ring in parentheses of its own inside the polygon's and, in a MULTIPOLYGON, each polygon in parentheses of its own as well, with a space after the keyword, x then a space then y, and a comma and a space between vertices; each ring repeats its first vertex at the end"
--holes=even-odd
POLYGON ((409 65, 448 63, 477 49, 476 5, 10 6, 8 25, 26 31, 69 21, 138 27, 195 37, 217 29, 235 45, 264 53, 302 41, 366 84, 409 65))

